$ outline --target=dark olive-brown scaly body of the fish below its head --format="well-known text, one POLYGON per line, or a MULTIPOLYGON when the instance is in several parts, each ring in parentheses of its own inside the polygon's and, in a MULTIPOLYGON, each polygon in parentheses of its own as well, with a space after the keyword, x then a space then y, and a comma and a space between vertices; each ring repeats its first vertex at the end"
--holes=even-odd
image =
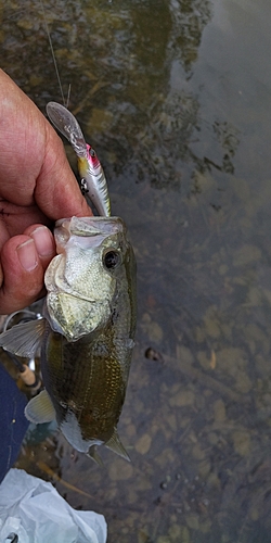
MULTIPOLYGON (((98 341, 104 345, 105 337, 98 341)), ((44 384, 52 391, 52 397, 61 399, 61 403, 53 402, 56 417, 63 420, 73 409, 83 441, 109 438, 125 396, 125 382, 116 356, 99 356, 96 351, 95 340, 70 344, 64 337, 50 332, 41 353, 44 384)))

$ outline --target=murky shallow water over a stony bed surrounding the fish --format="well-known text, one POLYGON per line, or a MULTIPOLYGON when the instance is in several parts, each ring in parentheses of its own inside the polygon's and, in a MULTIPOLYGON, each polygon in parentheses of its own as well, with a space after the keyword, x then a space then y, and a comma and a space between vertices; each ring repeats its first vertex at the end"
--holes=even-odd
MULTIPOLYGON (((138 258, 132 464, 104 451, 101 469, 51 435, 17 466, 52 469, 108 543, 269 543, 270 2, 43 2, 138 258)), ((1 66, 44 112, 61 97, 41 7, 2 2, 0 21, 1 66)))

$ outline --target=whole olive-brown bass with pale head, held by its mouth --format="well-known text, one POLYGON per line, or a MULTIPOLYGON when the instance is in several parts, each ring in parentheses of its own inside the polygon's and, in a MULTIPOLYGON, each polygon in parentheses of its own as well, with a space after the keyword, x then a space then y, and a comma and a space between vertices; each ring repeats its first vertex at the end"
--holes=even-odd
POLYGON ((101 463, 98 445, 129 460, 117 433, 134 345, 136 258, 119 217, 55 223, 42 315, 0 334, 17 356, 40 350, 44 383, 25 409, 36 424, 56 418, 72 446, 101 463))

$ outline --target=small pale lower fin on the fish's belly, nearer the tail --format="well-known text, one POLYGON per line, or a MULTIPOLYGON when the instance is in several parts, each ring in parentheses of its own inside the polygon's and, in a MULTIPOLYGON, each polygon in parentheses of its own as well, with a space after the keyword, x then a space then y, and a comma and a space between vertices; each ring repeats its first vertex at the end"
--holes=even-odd
POLYGON ((46 390, 28 402, 25 408, 25 416, 30 422, 41 425, 55 419, 55 411, 52 401, 46 390))

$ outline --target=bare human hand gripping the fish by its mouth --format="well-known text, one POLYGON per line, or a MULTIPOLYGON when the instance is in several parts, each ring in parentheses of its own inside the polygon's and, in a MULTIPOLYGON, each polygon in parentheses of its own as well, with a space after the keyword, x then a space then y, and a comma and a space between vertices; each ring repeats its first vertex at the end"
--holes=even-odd
POLYGON ((0 314, 44 295, 44 270, 55 255, 48 227, 91 214, 61 139, 0 70, 0 314))

